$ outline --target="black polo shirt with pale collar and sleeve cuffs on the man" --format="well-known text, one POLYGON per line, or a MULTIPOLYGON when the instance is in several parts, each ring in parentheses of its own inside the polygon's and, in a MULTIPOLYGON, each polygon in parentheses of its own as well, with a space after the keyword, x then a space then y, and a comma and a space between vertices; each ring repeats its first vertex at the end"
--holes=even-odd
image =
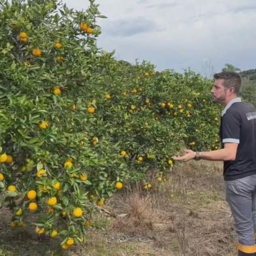
POLYGON ((224 180, 237 180, 256 174, 256 109, 235 98, 221 114, 221 148, 225 142, 237 143, 234 161, 224 161, 224 180))

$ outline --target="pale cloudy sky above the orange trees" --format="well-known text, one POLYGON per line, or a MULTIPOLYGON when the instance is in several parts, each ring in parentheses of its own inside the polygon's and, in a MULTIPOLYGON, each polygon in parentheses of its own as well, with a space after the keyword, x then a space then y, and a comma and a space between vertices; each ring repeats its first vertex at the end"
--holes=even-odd
MULTIPOLYGON (((88 0, 63 0, 86 10, 88 0)), ((116 59, 143 59, 156 70, 190 67, 207 74, 225 63, 256 69, 256 0, 96 0, 98 46, 116 59), (253 25, 254 24, 254 25, 253 25)))

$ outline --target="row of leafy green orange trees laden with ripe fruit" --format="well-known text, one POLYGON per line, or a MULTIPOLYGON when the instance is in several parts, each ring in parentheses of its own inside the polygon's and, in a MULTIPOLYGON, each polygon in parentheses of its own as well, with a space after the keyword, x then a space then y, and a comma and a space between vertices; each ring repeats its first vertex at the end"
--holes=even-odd
POLYGON ((212 82, 116 61, 97 48, 97 18, 93 0, 85 12, 1 3, 1 205, 11 227, 33 219, 63 249, 84 240, 96 204, 128 180, 150 182, 150 167, 161 178, 184 143, 219 147, 212 82))

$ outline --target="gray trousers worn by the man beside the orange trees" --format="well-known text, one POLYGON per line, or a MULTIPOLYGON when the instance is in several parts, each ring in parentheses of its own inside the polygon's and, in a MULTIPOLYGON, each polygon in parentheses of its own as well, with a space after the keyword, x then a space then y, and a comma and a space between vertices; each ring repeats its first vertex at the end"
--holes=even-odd
POLYGON ((234 217, 238 242, 253 246, 256 233, 256 174, 225 181, 225 195, 234 217))

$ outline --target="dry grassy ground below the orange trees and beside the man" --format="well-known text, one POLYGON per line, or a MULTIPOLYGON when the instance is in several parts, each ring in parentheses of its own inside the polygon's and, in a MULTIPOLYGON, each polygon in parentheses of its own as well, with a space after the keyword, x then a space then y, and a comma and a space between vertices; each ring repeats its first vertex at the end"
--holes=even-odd
POLYGON ((176 167, 152 189, 127 188, 99 208, 86 242, 62 251, 58 240, 33 228, 10 230, 10 212, 0 210, 0 255, 236 255, 231 212, 224 200, 220 163, 176 167))

